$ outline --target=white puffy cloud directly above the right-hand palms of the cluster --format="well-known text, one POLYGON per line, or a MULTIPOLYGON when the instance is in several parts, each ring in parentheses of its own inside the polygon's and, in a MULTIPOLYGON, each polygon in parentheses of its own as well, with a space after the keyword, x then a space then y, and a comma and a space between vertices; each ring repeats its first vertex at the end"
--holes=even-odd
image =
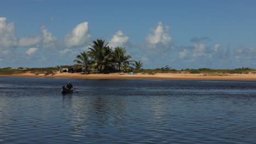
POLYGON ((110 47, 118 47, 118 46, 123 46, 125 43, 127 43, 129 37, 124 35, 122 31, 117 31, 115 35, 113 35, 112 39, 109 41, 109 46, 110 47))

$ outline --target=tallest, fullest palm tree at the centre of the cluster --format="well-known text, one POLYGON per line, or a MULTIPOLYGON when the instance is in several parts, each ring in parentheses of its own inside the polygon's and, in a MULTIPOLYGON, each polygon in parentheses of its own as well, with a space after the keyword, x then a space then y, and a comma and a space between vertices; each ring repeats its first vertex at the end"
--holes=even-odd
POLYGON ((99 71, 103 71, 106 67, 111 67, 112 51, 109 48, 108 43, 105 45, 104 40, 97 39, 92 41, 94 43, 89 47, 88 55, 92 57, 92 67, 97 68, 99 71))

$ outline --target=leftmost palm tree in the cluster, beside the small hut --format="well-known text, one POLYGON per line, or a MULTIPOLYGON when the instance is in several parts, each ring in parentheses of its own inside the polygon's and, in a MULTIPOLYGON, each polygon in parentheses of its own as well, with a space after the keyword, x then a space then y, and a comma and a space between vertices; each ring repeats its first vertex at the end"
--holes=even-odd
POLYGON ((75 59, 73 62, 80 64, 83 68, 85 68, 85 71, 88 71, 91 64, 88 53, 85 51, 81 52, 80 55, 77 55, 77 58, 78 59, 75 59))

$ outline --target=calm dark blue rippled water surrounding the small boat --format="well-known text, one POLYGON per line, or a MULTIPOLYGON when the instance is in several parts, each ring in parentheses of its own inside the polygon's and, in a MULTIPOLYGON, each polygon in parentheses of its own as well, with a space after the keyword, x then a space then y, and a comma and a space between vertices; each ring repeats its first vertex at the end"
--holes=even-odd
POLYGON ((0 77, 0 143, 256 143, 256 81, 0 77))

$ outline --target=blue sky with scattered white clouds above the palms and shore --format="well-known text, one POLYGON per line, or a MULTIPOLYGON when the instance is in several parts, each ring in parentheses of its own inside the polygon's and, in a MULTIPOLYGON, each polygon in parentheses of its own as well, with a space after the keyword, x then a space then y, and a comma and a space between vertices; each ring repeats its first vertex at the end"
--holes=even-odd
POLYGON ((256 69, 256 1, 0 1, 0 68, 74 64, 93 40, 144 69, 256 69))

